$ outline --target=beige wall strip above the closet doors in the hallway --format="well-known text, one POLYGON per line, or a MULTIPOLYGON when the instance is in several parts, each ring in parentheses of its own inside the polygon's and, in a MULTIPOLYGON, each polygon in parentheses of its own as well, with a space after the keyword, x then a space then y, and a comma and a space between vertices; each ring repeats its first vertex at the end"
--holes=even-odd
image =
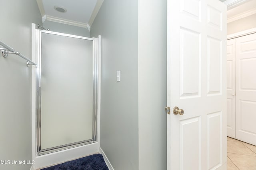
POLYGON ((227 32, 229 35, 251 28, 256 28, 256 14, 228 23, 227 32))

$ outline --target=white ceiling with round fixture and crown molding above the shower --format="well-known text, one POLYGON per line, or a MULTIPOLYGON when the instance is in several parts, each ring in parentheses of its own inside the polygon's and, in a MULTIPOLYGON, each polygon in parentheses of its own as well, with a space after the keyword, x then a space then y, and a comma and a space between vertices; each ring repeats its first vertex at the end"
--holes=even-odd
POLYGON ((50 20, 88 28, 103 3, 103 0, 36 0, 42 21, 50 20), (55 6, 66 12, 58 12, 55 6))

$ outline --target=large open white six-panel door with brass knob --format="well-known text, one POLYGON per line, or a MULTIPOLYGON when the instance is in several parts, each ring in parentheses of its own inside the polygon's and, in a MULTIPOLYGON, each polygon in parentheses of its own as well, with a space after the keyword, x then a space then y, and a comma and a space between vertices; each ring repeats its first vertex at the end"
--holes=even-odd
POLYGON ((226 170, 226 8, 168 0, 167 170, 226 170))

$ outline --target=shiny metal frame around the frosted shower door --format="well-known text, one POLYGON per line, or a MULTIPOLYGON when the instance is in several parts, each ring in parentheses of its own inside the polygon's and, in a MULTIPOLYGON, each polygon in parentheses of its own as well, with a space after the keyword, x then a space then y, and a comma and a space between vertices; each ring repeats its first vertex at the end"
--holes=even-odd
POLYGON ((37 56, 38 56, 38 67, 36 68, 36 151, 37 155, 48 154, 76 146, 82 146, 98 141, 98 81, 99 81, 99 58, 98 58, 98 38, 87 38, 82 36, 75 36, 71 34, 64 34, 59 32, 52 32, 47 30, 36 30, 37 39, 37 56), (93 41, 93 132, 92 139, 84 140, 80 142, 74 142, 71 144, 65 144, 47 149, 41 149, 41 47, 42 47, 42 33, 54 34, 59 36, 66 36, 72 38, 80 38, 84 40, 93 41))

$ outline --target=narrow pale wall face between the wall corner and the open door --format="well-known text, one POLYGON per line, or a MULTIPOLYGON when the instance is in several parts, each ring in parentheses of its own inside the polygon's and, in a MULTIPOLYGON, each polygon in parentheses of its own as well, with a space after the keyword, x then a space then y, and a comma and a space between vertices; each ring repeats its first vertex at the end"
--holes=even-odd
POLYGON ((138 2, 139 170, 166 170, 167 0, 138 2))

